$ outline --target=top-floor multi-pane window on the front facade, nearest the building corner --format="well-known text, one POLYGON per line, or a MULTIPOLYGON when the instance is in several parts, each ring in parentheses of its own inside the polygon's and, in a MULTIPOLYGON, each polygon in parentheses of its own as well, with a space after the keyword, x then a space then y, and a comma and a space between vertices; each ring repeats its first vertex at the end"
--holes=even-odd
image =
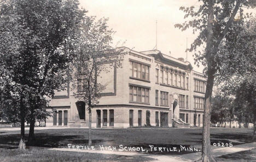
POLYGON ((149 65, 130 61, 130 76, 137 79, 149 80, 149 65))

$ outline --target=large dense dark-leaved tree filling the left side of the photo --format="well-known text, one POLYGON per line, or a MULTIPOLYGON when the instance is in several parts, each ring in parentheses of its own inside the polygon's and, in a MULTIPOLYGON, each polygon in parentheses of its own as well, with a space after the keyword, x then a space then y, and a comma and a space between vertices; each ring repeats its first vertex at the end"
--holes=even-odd
POLYGON ((25 148, 26 114, 30 112, 29 139, 33 139, 35 112, 45 107, 40 104, 54 90, 65 88, 74 33, 85 11, 77 0, 9 0, 1 3, 0 11, 1 79, 8 80, 11 95, 19 100, 20 148, 25 148))

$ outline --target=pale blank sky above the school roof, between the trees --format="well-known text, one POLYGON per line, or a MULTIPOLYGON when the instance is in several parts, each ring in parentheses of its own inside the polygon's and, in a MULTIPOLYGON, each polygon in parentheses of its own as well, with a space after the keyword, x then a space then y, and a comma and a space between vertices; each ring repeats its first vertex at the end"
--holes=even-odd
MULTIPOLYGON (((109 18, 108 25, 116 32, 114 44, 126 40, 125 44, 118 46, 135 51, 153 50, 156 44, 156 20, 158 50, 166 55, 185 58, 186 39, 189 47, 196 38, 191 29, 182 32, 174 28, 174 24, 185 21, 179 7, 198 6, 197 0, 80 0, 80 4, 88 10, 88 15, 109 18)), ((188 52, 188 61, 194 70, 202 72, 202 66, 197 68, 194 65, 193 53, 188 52)))

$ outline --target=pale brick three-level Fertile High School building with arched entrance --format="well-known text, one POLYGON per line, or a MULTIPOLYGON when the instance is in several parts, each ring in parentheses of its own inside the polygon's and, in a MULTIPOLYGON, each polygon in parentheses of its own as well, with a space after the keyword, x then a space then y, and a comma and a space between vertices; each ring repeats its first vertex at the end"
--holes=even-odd
MULTIPOLYGON (((97 81, 107 82, 100 103, 92 109, 92 127, 202 127, 206 77, 183 58, 158 50, 127 51, 122 68, 109 68, 97 81)), ((47 126, 87 127, 89 113, 73 91, 56 92, 50 106, 56 111, 47 126)))

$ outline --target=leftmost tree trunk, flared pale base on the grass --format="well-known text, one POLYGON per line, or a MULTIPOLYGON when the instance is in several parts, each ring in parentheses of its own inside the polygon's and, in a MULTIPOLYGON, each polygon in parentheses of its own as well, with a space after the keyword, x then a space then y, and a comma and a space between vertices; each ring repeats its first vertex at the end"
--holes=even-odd
MULTIPOLYGON (((23 99, 23 98, 22 98, 23 99)), ((26 143, 25 143, 25 107, 21 101, 20 105, 20 143, 19 143, 19 149, 26 149, 26 143)))

